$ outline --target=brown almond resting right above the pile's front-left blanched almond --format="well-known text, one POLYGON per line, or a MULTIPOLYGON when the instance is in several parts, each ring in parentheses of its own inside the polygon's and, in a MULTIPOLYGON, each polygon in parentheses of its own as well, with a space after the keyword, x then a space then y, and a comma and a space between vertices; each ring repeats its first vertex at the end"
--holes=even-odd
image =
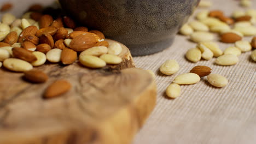
POLYGON ((16 57, 16 58, 20 58, 24 61, 27 61, 27 62, 34 62, 34 61, 37 61, 37 57, 34 56, 32 54, 32 52, 26 50, 26 49, 23 49, 21 47, 14 47, 12 49, 13 51, 13 56, 16 57))

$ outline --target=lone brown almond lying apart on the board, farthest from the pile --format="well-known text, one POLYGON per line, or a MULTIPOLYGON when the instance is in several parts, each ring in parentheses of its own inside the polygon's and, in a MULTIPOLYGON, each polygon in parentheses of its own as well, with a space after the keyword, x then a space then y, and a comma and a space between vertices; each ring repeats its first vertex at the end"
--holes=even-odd
POLYGON ((55 98, 68 92, 71 89, 71 83, 66 80, 57 80, 53 82, 44 93, 44 98, 55 98))

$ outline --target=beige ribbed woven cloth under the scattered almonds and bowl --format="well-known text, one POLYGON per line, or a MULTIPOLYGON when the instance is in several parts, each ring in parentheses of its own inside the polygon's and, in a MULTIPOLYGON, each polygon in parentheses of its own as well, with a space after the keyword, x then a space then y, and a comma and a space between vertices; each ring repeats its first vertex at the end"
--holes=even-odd
MULTIPOLYGON (((44 0, 44 4, 48 5, 53 1, 44 0)), ((11 2, 18 3, 11 11, 16 15, 21 15, 22 9, 27 8, 30 3, 42 3, 39 0, 11 2)), ((210 9, 224 10, 226 15, 230 15, 233 10, 243 9, 234 0, 212 2, 213 7, 210 9)), ((253 8, 256 8, 256 1, 252 2, 253 8)), ((202 9, 197 9, 195 13, 200 10, 202 9)), ((219 44, 222 50, 232 45, 219 44)), ((240 62, 231 67, 215 65, 215 58, 211 61, 190 63, 184 55, 195 45, 188 41, 188 37, 177 35, 169 49, 155 55, 134 58, 138 68, 151 69, 156 74, 158 104, 133 144, 256 143, 256 63, 250 58, 251 52, 242 53, 240 62), (164 76, 158 72, 160 65, 167 59, 176 59, 179 63, 181 70, 177 74, 164 76), (215 88, 206 79, 202 79, 196 85, 182 86, 181 97, 175 100, 166 99, 165 89, 174 77, 188 73, 195 65, 207 65, 213 69, 213 73, 227 77, 228 86, 215 88)))

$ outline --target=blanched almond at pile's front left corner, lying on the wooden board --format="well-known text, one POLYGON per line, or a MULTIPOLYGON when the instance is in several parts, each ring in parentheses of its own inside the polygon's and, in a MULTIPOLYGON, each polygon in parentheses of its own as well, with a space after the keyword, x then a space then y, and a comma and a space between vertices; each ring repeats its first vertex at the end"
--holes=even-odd
POLYGON ((33 66, 18 58, 7 58, 4 60, 3 65, 11 71, 24 72, 33 69, 33 66))

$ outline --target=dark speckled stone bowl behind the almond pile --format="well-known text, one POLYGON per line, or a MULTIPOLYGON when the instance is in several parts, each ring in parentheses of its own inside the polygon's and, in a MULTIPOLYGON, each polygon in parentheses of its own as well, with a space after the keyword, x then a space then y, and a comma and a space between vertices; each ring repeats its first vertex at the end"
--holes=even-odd
POLYGON ((59 0, 84 25, 129 47, 133 56, 169 47, 200 0, 59 0))

